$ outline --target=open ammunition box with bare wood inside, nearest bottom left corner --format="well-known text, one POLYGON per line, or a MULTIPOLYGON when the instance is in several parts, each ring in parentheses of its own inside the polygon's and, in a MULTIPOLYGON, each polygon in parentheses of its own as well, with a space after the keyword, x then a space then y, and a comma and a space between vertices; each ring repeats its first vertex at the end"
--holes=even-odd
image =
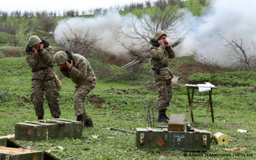
POLYGON ((43 160, 43 151, 0 147, 0 160, 43 160))

